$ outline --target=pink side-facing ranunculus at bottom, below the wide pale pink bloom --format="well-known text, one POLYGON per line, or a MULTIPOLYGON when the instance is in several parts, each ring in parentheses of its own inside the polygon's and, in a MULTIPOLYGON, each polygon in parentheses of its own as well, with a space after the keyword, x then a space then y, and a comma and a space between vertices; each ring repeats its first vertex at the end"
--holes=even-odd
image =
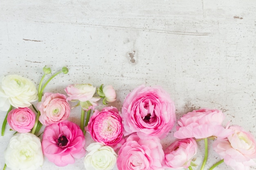
POLYGON ((189 168, 191 159, 197 153, 198 145, 193 138, 173 142, 166 150, 165 163, 168 168, 189 168))

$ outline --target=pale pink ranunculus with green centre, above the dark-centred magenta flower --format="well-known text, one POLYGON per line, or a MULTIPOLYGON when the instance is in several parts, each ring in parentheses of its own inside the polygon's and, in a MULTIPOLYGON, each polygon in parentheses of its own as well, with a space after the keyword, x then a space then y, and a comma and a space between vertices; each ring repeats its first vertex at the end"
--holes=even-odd
POLYGON ((49 126, 66 120, 70 115, 70 104, 66 98, 60 93, 45 93, 42 101, 37 104, 40 111, 39 121, 43 125, 49 126))

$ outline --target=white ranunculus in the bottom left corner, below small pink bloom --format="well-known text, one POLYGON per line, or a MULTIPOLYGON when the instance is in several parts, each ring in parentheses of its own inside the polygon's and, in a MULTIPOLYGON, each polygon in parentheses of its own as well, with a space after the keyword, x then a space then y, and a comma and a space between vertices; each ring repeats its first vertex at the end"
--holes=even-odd
POLYGON ((4 151, 4 161, 11 170, 36 170, 43 165, 40 139, 29 132, 16 134, 4 151))

